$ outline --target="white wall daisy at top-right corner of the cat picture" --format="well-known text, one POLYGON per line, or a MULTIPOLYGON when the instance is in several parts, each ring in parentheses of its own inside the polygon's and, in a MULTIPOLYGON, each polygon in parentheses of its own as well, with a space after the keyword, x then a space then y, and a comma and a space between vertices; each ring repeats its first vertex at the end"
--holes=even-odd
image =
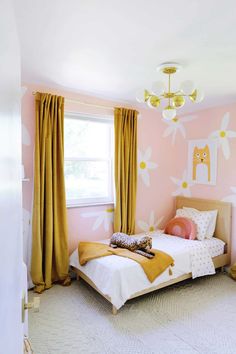
POLYGON ((217 139, 218 146, 222 148, 223 155, 228 160, 230 158, 229 139, 236 138, 236 131, 227 130, 230 121, 229 112, 225 113, 222 118, 220 129, 215 130, 209 135, 211 139, 217 139))

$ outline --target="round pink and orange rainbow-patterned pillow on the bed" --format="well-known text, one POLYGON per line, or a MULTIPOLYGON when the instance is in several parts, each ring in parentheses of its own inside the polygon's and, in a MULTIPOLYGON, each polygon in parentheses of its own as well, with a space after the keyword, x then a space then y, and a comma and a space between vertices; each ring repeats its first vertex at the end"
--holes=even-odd
POLYGON ((197 237, 196 224, 189 218, 177 217, 171 219, 166 227, 165 234, 195 240, 197 237))

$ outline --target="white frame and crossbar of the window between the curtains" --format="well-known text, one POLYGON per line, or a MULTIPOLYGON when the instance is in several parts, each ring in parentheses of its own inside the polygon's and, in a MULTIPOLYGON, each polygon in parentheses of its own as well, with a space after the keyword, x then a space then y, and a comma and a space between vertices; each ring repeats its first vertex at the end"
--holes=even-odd
POLYGON ((78 119, 83 121, 90 121, 109 125, 109 146, 110 151, 108 157, 102 158, 83 158, 83 157, 68 157, 64 156, 64 161, 105 161, 109 164, 109 178, 108 178, 108 197, 94 197, 94 198, 80 198, 80 199, 67 199, 67 208, 114 204, 114 119, 112 116, 101 116, 96 114, 82 114, 66 111, 64 114, 64 124, 66 119, 78 119))

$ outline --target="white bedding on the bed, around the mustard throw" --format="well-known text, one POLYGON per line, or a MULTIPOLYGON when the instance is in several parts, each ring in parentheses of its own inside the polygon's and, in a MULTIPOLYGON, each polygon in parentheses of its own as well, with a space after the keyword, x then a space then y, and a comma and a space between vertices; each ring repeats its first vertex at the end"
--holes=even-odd
MULTIPOLYGON (((175 261, 170 276, 168 269, 150 283, 142 267, 135 261, 119 256, 107 256, 89 261, 81 266, 78 251, 70 257, 70 265, 80 269, 96 287, 110 297, 119 309, 136 292, 157 286, 170 279, 192 272, 193 278, 215 274, 211 257, 224 253, 224 242, 212 238, 206 241, 190 241, 179 237, 153 233, 153 248, 171 255, 175 261), (217 254, 218 253, 218 254, 217 254)), ((100 241, 108 243, 109 240, 100 241)))

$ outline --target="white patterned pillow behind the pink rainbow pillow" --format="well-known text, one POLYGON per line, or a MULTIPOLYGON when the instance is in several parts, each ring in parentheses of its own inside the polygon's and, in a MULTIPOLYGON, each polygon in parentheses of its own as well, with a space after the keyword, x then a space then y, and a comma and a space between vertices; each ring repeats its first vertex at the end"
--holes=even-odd
POLYGON ((177 209, 177 216, 182 216, 185 218, 190 218, 197 225, 197 239, 199 241, 204 240, 206 233, 211 221, 211 215, 201 214, 193 210, 177 209))

